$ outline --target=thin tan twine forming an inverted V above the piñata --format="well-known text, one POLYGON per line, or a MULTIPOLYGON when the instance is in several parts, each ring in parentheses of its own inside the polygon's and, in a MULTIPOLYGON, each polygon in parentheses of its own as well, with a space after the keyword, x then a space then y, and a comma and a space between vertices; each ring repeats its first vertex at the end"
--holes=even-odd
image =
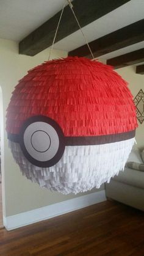
MULTIPOLYGON (((81 25, 79 24, 79 21, 77 20, 76 14, 74 13, 73 4, 71 4, 71 0, 67 0, 67 2, 68 2, 68 4, 69 4, 69 6, 70 6, 71 11, 73 12, 74 18, 76 19, 76 22, 77 22, 77 24, 78 24, 78 26, 79 26, 79 29, 81 30, 81 33, 82 33, 82 35, 83 35, 83 37, 84 37, 84 40, 85 40, 85 43, 87 44, 88 49, 90 50, 90 54, 92 55, 92 59, 94 59, 95 57, 93 56, 92 49, 90 48, 90 45, 88 44, 87 38, 85 37, 84 32, 82 31, 82 27, 81 27, 81 25)), ((59 29, 59 24, 60 24, 60 21, 61 21, 61 19, 62 19, 62 15, 63 15, 63 10, 65 9, 65 5, 66 5, 67 2, 65 2, 65 4, 63 5, 62 12, 60 13, 59 22, 58 22, 58 24, 57 24, 57 28, 56 28, 56 32, 55 32, 55 35, 54 35, 54 39, 53 39, 53 42, 52 42, 52 46, 51 46, 51 49, 50 49, 50 52, 49 52, 48 60, 50 59, 51 53, 52 53, 52 49, 54 48, 54 42, 55 42, 55 40, 56 40, 57 31, 58 31, 58 29, 59 29)))

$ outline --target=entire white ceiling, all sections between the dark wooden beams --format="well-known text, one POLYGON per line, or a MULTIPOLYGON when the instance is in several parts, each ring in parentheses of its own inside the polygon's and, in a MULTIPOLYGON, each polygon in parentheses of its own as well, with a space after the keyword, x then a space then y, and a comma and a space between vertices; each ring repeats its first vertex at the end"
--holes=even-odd
MULTIPOLYGON (((60 9, 66 0, 0 0, 0 38, 20 41, 60 9)), ((87 0, 88 1, 88 0, 87 0)), ((77 17, 78 18, 78 17, 77 17)), ((131 0, 83 28, 88 42, 116 31, 144 18, 144 0, 131 0)), ((57 24, 56 24, 57 25, 57 24)), ((67 24, 65 24, 67 26, 67 24)), ((76 31, 54 45, 56 49, 71 51, 85 41, 76 31)), ((119 56, 144 47, 144 41, 128 46, 103 58, 119 56)))

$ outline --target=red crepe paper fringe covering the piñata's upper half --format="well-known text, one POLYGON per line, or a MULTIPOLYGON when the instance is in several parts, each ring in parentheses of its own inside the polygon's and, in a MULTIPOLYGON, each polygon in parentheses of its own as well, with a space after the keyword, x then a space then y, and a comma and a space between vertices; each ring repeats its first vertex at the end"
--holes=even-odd
POLYGON ((18 134, 32 115, 46 115, 65 136, 97 136, 135 130, 128 84, 112 67, 84 57, 45 62, 24 76, 7 108, 6 130, 18 134))

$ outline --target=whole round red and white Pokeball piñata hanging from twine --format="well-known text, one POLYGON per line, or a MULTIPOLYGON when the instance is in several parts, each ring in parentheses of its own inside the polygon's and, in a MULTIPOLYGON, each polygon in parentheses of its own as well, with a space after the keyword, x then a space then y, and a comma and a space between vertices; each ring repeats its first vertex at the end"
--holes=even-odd
POLYGON ((7 109, 9 146, 21 172, 63 194, 99 188, 123 170, 136 127, 126 81, 84 57, 30 70, 7 109))

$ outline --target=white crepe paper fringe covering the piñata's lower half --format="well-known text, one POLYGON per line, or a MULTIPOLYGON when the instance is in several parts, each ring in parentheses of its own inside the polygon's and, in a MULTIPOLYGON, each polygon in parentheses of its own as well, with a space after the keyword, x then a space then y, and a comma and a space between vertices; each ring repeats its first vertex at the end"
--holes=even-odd
POLYGON ((134 142, 132 138, 104 145, 67 146, 60 161, 49 168, 29 163, 18 143, 9 141, 9 147, 29 180, 51 191, 77 194, 109 183, 110 178, 124 170, 134 142))

